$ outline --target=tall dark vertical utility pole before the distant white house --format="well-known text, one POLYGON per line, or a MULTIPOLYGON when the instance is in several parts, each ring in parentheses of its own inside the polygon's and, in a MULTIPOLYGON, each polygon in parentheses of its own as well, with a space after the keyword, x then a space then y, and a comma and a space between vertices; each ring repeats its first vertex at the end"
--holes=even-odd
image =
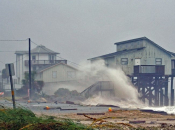
POLYGON ((31 99, 31 40, 29 38, 29 99, 31 99))

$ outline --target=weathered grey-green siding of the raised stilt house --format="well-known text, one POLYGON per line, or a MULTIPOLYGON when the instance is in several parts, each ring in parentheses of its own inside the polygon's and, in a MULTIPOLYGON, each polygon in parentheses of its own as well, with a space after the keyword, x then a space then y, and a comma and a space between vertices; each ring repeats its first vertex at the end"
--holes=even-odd
MULTIPOLYGON (((118 53, 113 57, 105 58, 105 63, 111 68, 121 67, 125 74, 132 75, 134 72, 135 59, 140 59, 140 65, 156 65, 156 58, 161 58, 162 65, 165 65, 165 75, 171 75, 171 56, 147 40, 118 44, 117 51, 131 50, 141 47, 144 48, 140 50, 118 53), (128 64, 122 65, 122 58, 127 58, 128 64)), ((98 59, 93 59, 93 61, 91 60, 91 63, 97 60, 98 59)))

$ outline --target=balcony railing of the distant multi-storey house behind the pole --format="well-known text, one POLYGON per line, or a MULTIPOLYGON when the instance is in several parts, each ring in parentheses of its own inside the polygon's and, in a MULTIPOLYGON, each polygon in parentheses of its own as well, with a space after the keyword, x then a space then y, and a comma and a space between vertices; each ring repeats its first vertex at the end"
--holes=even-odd
MULTIPOLYGON (((31 65, 49 65, 57 63, 67 64, 67 60, 31 60, 31 65)), ((25 60, 25 66, 29 66, 28 60, 25 60)))

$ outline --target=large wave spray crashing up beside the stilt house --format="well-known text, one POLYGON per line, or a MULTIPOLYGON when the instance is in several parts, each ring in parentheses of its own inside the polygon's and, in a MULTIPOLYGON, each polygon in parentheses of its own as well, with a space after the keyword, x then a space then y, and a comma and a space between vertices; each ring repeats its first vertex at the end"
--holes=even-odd
MULTIPOLYGON (((89 84, 98 81, 112 81, 114 86, 115 96, 110 94, 102 95, 100 93, 93 93, 91 97, 83 101, 82 104, 97 105, 110 104, 120 107, 143 107, 143 103, 138 99, 139 94, 137 89, 132 85, 130 79, 125 75, 120 67, 108 68, 105 66, 103 60, 99 60, 93 64, 82 64, 80 68, 80 77, 86 77, 86 82, 89 84)), ((107 88, 108 86, 106 86, 107 88)))

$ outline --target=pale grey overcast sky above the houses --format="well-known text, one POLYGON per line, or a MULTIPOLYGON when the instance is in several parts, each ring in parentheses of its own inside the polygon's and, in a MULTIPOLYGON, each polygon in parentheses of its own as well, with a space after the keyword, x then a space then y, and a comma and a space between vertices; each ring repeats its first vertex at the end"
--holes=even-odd
MULTIPOLYGON (((0 0, 0 40, 30 37, 76 63, 143 36, 175 52, 174 34, 175 0, 0 0)), ((0 42, 0 51, 27 49, 27 41, 0 42)), ((15 61, 14 52, 0 54, 15 61)))

